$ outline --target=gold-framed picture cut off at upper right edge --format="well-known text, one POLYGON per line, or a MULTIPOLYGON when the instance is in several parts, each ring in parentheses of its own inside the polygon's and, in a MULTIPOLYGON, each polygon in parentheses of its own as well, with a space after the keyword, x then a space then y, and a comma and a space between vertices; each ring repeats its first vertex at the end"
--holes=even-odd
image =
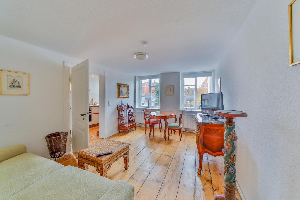
POLYGON ((289 4, 289 66, 300 64, 300 0, 289 4))

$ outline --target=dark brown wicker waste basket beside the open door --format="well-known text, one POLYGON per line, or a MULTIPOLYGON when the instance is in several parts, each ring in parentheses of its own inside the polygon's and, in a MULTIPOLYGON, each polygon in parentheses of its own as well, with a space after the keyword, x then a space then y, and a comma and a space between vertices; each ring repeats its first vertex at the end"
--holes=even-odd
MULTIPOLYGON (((62 157, 66 154, 68 132, 56 132, 50 133, 45 137, 49 156, 56 161, 57 158, 62 157)), ((67 158, 64 158, 67 160, 67 158)))

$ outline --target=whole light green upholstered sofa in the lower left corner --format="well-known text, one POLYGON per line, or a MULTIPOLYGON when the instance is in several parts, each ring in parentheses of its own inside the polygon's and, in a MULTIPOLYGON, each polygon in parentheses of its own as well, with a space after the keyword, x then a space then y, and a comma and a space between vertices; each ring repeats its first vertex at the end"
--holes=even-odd
POLYGON ((0 149, 2 199, 134 199, 134 186, 26 152, 25 145, 0 149))

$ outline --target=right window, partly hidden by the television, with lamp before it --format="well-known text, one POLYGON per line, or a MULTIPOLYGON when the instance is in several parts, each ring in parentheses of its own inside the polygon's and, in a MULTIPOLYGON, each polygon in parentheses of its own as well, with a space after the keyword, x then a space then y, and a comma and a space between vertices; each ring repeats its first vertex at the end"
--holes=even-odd
POLYGON ((181 109, 201 110, 201 94, 214 92, 213 71, 182 74, 181 109), (194 101, 187 101, 187 96, 194 96, 194 101))

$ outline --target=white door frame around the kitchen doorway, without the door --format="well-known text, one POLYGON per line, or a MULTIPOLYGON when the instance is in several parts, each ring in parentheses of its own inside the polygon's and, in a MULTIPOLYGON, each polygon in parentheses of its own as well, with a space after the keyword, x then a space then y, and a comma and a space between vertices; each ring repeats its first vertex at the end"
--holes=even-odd
MULTIPOLYGON (((71 149, 71 141, 70 141, 70 130, 71 130, 71 116, 70 116, 70 68, 74 67, 76 64, 72 64, 70 62, 64 61, 64 132, 69 133, 69 137, 67 137, 67 148, 66 148, 66 155, 72 153, 71 149)), ((107 72, 100 71, 89 67, 89 72, 98 74, 100 76, 104 76, 104 124, 105 120, 107 119, 107 72)), ((100 113, 99 113, 100 115, 100 113)), ((100 116, 99 116, 100 119, 100 116)), ((99 123, 100 124, 100 123, 99 123)), ((103 130, 100 132, 99 130, 99 137, 100 138, 107 138, 107 127, 103 127, 103 130)))

